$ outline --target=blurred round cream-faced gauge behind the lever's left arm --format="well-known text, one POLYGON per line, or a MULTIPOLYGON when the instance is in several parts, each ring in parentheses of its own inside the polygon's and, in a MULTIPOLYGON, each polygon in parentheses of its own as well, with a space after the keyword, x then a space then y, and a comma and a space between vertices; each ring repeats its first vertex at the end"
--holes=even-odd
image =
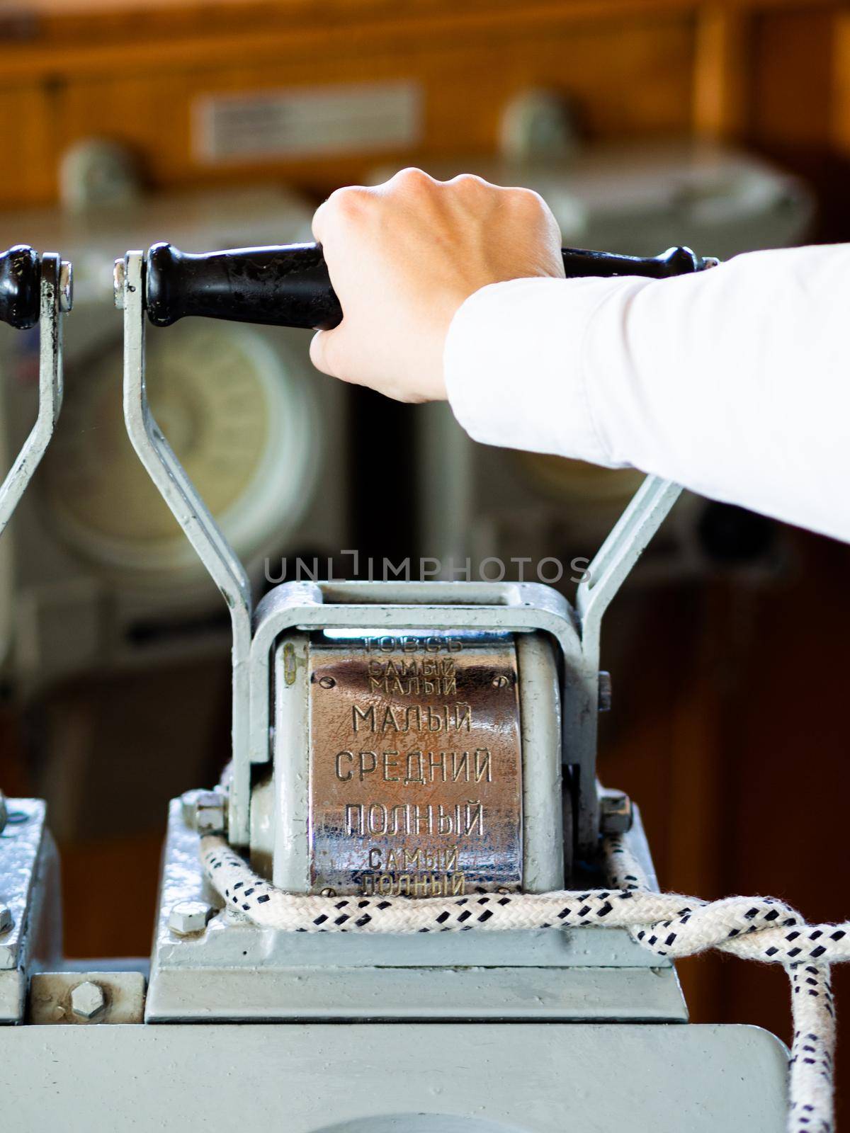
MULTIPOLYGON (((283 546, 318 466, 306 364, 232 323, 150 332, 146 359, 153 416, 236 552, 283 546)), ((57 534, 108 573, 188 583, 205 571, 130 445, 121 373, 120 341, 66 361, 44 502, 57 534)))

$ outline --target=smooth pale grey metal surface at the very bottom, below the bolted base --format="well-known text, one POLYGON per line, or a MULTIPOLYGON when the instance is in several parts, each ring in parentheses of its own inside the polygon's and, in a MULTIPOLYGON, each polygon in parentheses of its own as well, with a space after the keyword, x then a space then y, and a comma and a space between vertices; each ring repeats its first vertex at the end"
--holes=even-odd
POLYGON ((785 1068, 749 1026, 0 1029, 19 1133, 783 1133, 785 1068))

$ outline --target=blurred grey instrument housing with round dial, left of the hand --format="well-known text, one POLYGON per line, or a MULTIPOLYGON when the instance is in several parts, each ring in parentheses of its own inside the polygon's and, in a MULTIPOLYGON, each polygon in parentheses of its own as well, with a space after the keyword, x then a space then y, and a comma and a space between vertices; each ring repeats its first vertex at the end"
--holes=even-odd
MULTIPOLYGON (((76 276, 63 410, 3 543, 0 644, 24 687, 221 651, 228 640, 221 597, 127 438, 117 252, 158 239, 203 252, 309 233, 312 205, 283 190, 124 193, 113 156, 83 147, 62 165, 65 207, 0 216, 8 244, 61 247, 76 276)), ((266 560, 278 577, 281 559, 324 559, 348 545, 347 391, 316 374, 308 347, 299 332, 195 320, 148 335, 154 416, 257 587, 266 560)), ((0 337, 7 462, 34 418, 36 377, 37 338, 0 337)))

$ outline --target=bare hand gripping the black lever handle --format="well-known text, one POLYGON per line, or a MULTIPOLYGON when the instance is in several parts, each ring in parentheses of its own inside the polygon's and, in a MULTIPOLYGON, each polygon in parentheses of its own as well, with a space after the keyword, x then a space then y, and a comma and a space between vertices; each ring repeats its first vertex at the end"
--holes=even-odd
POLYGON ((561 232, 530 189, 405 169, 337 189, 313 218, 342 322, 317 331, 317 369, 399 401, 445 399, 443 346, 458 307, 488 283, 563 276, 561 232))

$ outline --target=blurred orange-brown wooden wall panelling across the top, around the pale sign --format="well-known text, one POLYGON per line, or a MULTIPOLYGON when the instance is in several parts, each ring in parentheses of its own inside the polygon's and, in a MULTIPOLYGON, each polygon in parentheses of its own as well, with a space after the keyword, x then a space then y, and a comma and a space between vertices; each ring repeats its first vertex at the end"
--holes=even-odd
POLYGON ((570 95, 592 137, 840 147, 845 23, 827 0, 29 0, 0 15, 0 140, 26 155, 0 205, 56 199, 57 152, 99 135, 126 142, 154 187, 284 178, 323 193, 376 159, 492 151, 504 103, 529 86, 570 95), (228 167, 193 155, 199 95, 382 78, 423 87, 415 151, 228 167))

